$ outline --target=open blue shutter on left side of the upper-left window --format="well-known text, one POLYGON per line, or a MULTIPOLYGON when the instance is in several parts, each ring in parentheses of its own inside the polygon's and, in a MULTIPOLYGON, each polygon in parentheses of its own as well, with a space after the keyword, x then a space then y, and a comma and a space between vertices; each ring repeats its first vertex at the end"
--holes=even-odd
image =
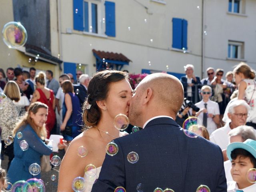
POLYGON ((83 0, 73 0, 74 30, 78 31, 84 30, 83 2, 83 0))

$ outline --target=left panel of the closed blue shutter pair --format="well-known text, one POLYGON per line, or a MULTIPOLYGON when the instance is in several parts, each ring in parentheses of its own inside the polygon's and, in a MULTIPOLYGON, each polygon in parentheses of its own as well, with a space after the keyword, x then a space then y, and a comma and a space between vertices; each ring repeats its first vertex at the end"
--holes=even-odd
POLYGON ((172 47, 182 49, 182 19, 172 18, 172 47))

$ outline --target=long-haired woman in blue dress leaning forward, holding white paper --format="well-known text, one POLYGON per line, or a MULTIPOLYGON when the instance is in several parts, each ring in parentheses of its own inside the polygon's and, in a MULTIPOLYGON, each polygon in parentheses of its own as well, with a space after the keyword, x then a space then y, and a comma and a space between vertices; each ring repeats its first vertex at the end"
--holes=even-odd
POLYGON ((33 163, 40 165, 41 156, 52 153, 51 142, 47 145, 44 143, 47 136, 45 128, 47 115, 48 106, 41 102, 34 102, 28 108, 28 113, 23 120, 14 128, 14 159, 8 170, 9 182, 41 177, 40 174, 36 176, 30 174, 28 168, 33 163), (23 140, 28 143, 27 150, 20 148, 20 142, 23 140))

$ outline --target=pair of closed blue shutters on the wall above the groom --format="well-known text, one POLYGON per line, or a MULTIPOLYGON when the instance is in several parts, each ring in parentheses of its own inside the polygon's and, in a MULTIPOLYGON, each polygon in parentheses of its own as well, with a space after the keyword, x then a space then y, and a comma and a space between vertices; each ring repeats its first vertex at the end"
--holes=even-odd
POLYGON ((172 48, 187 50, 188 21, 172 18, 172 48))

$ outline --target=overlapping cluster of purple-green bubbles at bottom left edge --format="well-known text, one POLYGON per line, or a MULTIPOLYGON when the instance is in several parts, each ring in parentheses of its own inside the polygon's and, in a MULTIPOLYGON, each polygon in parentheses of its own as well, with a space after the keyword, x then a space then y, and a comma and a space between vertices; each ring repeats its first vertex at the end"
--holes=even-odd
POLYGON ((8 185, 8 190, 13 192, 45 192, 44 182, 41 179, 31 178, 26 181, 20 180, 13 185, 8 185))

